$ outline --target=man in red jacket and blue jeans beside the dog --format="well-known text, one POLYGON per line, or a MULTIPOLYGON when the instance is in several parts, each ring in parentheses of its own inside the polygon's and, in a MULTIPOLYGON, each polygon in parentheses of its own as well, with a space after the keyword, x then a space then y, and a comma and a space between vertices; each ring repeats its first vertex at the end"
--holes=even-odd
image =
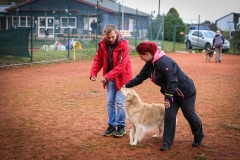
POLYGON ((128 41, 113 24, 104 28, 105 38, 99 43, 97 54, 90 71, 90 80, 96 81, 98 72, 103 69, 100 82, 107 88, 108 128, 104 136, 121 137, 125 131, 124 96, 121 87, 132 79, 130 48, 128 41), (117 111, 116 111, 116 105, 117 111))

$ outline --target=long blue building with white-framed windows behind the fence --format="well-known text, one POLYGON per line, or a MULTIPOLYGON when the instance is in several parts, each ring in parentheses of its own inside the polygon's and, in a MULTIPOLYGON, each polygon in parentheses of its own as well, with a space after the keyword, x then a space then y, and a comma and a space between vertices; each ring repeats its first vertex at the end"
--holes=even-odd
MULTIPOLYGON (((13 4, 6 11, 6 29, 31 27, 33 16, 33 33, 44 37, 46 31, 49 37, 66 34, 91 33, 90 23, 93 19, 99 21, 98 31, 106 24, 115 24, 122 30, 121 5, 108 0, 26 0, 21 4, 13 4), (32 7, 32 11, 31 11, 32 7), (69 21, 68 21, 69 19, 69 21)), ((124 30, 132 35, 138 30, 139 35, 147 37, 150 14, 124 6, 124 30)))

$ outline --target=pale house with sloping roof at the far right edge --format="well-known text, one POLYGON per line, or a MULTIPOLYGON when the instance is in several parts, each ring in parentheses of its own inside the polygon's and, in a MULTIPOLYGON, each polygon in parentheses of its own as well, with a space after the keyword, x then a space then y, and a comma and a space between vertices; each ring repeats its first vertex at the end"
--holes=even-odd
POLYGON ((222 31, 231 31, 240 29, 240 13, 230 13, 215 22, 218 29, 222 31))

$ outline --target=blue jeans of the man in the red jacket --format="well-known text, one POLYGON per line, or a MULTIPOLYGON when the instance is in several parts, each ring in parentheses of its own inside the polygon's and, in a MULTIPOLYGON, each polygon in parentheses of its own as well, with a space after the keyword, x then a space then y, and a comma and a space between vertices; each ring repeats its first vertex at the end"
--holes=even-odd
POLYGON ((112 126, 126 126, 126 114, 124 110, 124 95, 120 90, 117 91, 114 80, 107 84, 107 111, 108 124, 112 126))

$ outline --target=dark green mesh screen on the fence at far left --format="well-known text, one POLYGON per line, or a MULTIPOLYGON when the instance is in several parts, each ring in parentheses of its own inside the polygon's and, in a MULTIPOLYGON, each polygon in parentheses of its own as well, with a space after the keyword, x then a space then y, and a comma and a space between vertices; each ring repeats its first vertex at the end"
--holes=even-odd
POLYGON ((30 57, 29 32, 30 28, 0 30, 0 55, 30 57))

